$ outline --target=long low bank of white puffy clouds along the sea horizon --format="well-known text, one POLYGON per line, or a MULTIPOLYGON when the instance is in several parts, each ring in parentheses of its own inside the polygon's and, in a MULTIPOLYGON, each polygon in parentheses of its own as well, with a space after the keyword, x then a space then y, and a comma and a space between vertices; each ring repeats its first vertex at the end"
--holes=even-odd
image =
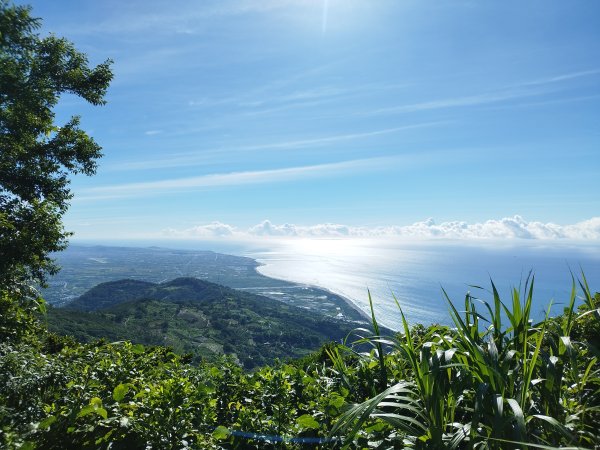
POLYGON ((274 224, 270 220, 240 230, 232 225, 213 222, 186 230, 165 230, 173 237, 301 237, 301 238, 353 238, 353 237, 400 237, 417 239, 529 239, 529 240, 600 240, 600 217, 572 225, 557 225, 526 221, 521 216, 491 219, 469 224, 450 221, 437 224, 429 218, 405 226, 351 227, 342 224, 324 223, 317 225, 274 224))

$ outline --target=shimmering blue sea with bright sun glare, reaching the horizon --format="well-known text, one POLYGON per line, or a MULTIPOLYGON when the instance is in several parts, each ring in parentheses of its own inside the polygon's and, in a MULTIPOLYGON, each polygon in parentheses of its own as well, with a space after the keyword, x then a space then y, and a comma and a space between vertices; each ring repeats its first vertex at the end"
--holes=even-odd
POLYGON ((393 329, 401 327, 394 296, 409 322, 427 325, 450 323, 442 289, 462 309, 467 292, 492 300, 493 280, 509 303, 512 289, 522 291, 531 274, 534 320, 542 319, 550 305, 555 315, 568 304, 571 274, 577 279, 583 271, 592 293, 600 291, 600 243, 593 242, 264 238, 122 244, 251 257, 263 275, 327 289, 366 313, 370 293, 378 321, 393 329))

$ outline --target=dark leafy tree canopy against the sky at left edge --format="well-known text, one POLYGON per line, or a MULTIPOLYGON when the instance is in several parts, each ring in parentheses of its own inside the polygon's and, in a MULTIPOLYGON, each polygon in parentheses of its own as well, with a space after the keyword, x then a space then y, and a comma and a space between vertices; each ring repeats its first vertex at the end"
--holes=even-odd
POLYGON ((57 268, 50 252, 70 233, 61 218, 69 175, 95 173, 100 146, 79 116, 55 123, 64 93, 104 104, 110 60, 90 68, 68 40, 37 34, 31 8, 0 0, 0 286, 44 282, 57 268))

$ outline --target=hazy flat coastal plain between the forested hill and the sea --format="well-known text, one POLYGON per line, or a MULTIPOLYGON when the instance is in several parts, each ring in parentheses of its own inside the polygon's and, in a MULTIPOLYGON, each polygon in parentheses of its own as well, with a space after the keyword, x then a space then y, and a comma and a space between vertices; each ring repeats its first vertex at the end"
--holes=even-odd
POLYGON ((261 275, 255 260, 212 251, 160 247, 71 245, 55 255, 61 271, 42 291, 46 301, 65 306, 92 287, 123 278, 162 283, 195 277, 282 301, 340 320, 365 316, 343 297, 327 290, 261 275))

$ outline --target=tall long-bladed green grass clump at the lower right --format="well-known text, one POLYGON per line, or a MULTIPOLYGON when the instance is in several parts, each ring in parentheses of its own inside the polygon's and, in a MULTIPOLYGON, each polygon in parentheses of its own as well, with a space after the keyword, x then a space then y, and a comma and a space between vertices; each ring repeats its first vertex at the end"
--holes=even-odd
POLYGON ((384 337, 373 314, 375 333, 361 335, 351 349, 373 347, 357 353, 385 371, 379 377, 385 386, 350 405, 331 434, 344 435, 349 448, 361 430, 378 423, 387 429, 381 448, 600 445, 600 296, 592 296, 585 276, 573 277, 563 314, 546 313, 535 323, 534 281, 529 276, 512 289, 508 302, 493 281, 491 300, 467 293, 461 307, 443 291, 452 326, 411 327, 396 300, 403 328, 384 337))

